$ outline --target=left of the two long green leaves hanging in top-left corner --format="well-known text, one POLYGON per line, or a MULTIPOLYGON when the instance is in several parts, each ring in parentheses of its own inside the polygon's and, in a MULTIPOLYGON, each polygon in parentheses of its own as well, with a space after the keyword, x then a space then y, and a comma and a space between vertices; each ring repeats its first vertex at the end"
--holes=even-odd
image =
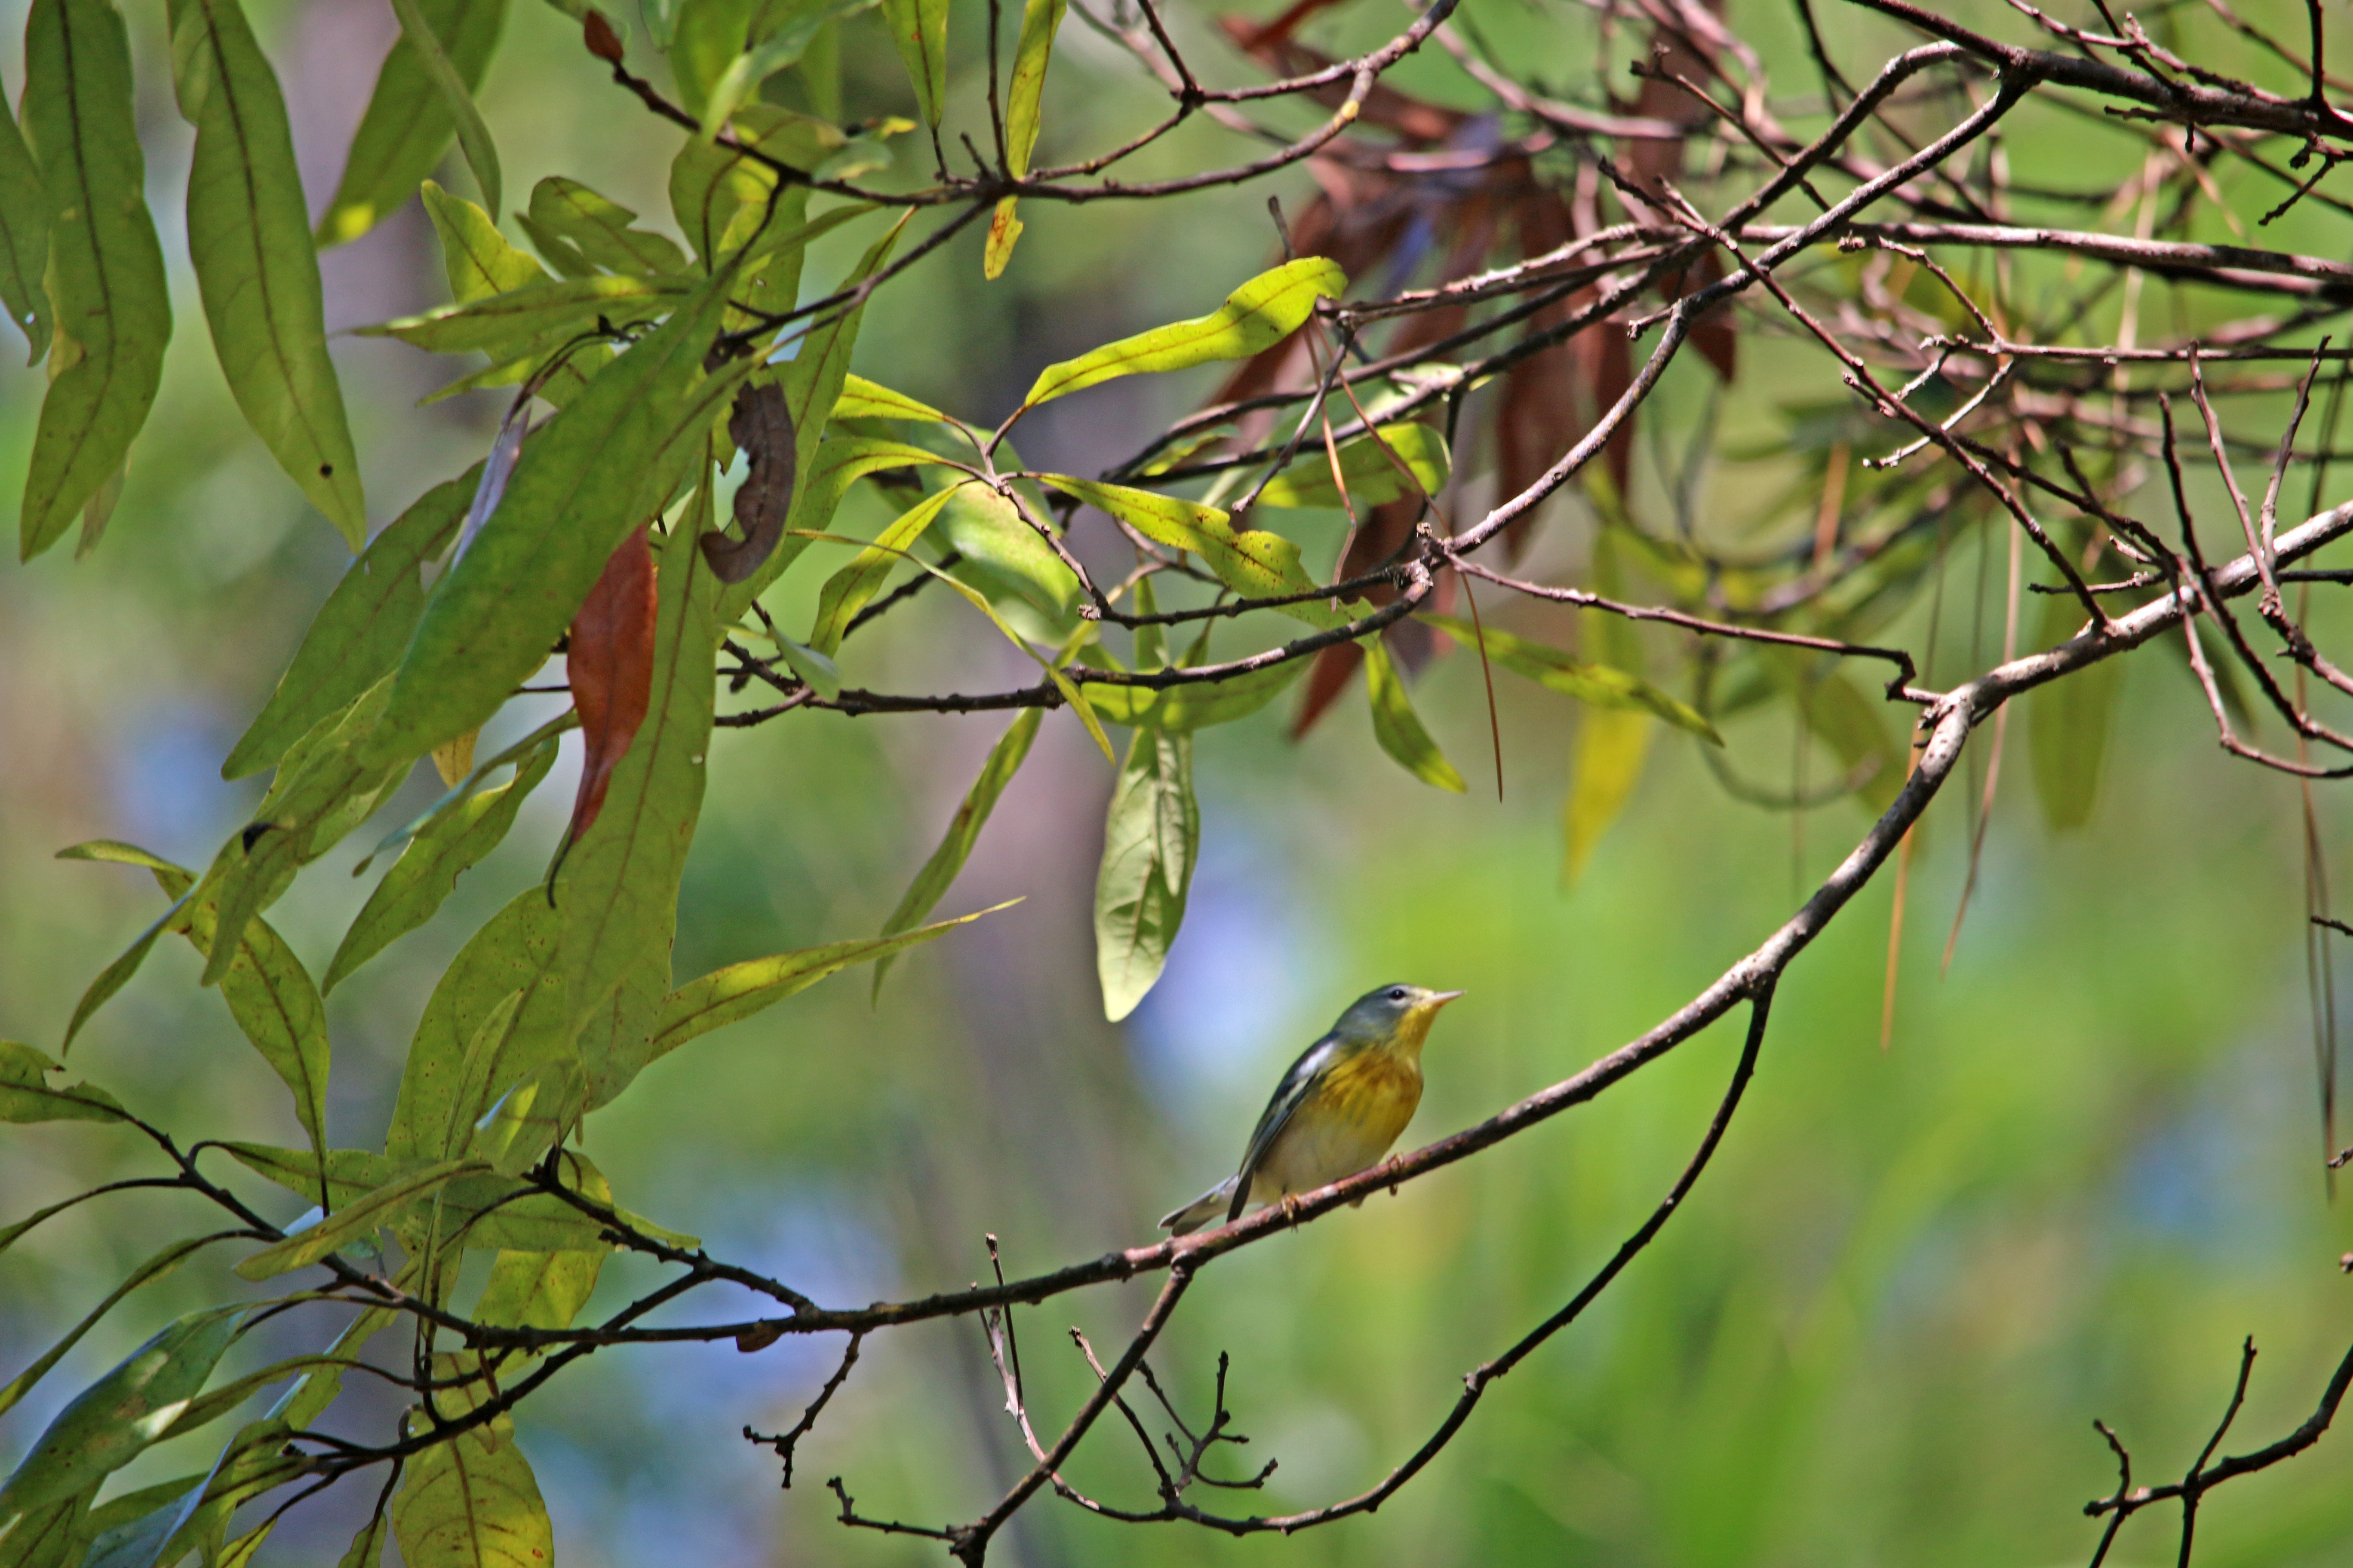
POLYGON ((108 0, 33 0, 24 136, 49 193, 56 357, 24 482, 24 559, 59 541, 129 456, 162 383, 172 296, 146 209, 132 56, 108 0))

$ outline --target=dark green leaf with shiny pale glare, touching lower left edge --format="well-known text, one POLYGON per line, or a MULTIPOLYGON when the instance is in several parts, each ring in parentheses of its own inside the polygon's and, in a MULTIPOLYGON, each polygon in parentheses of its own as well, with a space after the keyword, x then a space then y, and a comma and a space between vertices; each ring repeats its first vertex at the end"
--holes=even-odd
MULTIPOLYGON (((242 1314, 242 1305, 191 1312, 75 1394, 0 1486, 0 1519, 71 1497, 139 1458, 202 1392, 242 1314)), ((0 1389, 0 1408, 16 1403, 24 1382, 0 1389)))

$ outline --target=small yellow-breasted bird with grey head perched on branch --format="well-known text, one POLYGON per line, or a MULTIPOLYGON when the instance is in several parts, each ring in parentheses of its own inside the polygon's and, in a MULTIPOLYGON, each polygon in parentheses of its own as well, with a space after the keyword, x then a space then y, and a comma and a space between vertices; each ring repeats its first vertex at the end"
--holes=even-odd
POLYGON ((1332 1032, 1292 1063, 1266 1103, 1242 1168, 1209 1187, 1160 1229, 1238 1220, 1249 1204, 1287 1201, 1388 1154, 1421 1105, 1421 1041, 1438 1009, 1461 992, 1384 985, 1358 997, 1332 1032))

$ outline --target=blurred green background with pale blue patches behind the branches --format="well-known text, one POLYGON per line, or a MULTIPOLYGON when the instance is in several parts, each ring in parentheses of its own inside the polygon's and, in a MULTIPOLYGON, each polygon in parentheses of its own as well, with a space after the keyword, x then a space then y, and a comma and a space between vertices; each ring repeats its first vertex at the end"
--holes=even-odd
MULTIPOLYGON (((1562 61, 1539 71, 1555 87, 1593 80, 1581 9, 1551 0, 1468 9, 1492 35, 1534 49, 1529 59, 1562 61)), ((979 45, 976 12, 955 14, 960 49, 979 45)), ((2301 35, 2301 12, 2261 14, 2301 35)), ((24 80, 21 16, 21 2, 0 5, 0 78, 12 96, 24 80)), ((1313 38, 1374 38, 1398 16, 1360 5, 1313 38)), ((0 1034, 52 1051, 87 980, 160 907, 144 875, 52 853, 104 835, 181 860, 209 856, 259 795, 254 780, 224 785, 219 759, 344 564, 332 531, 224 395, 179 242, 188 134, 169 103, 160 7, 134 5, 129 19, 151 197, 176 268, 165 393, 94 555, 73 562, 56 550, 33 567, 0 567, 0 1034)), ((1176 19, 1219 80, 1257 80, 1214 42, 1209 14, 1176 19)), ((1857 12, 1831 7, 1824 21, 1849 75, 1906 42, 1857 12)), ((313 0, 261 5, 256 24, 287 82, 320 205, 393 19, 372 0, 313 0)), ((1734 24, 1784 92, 1809 89, 1788 14, 1737 5, 1734 24)), ((1075 16, 1064 40, 1042 155, 1104 146, 1160 113, 1158 92, 1075 16)), ((2212 42, 2205 59, 2280 75, 2233 45, 2212 42)), ((1400 80, 1478 103, 1442 61, 1417 59, 1400 80)), ((958 94, 969 115, 976 82, 958 78, 958 94)), ((880 26, 861 16, 845 28, 845 113, 906 113, 906 96, 880 26)), ((572 174, 664 214, 675 136, 602 85, 558 12, 518 0, 482 101, 511 190, 572 174)), ((1800 108, 1791 115, 1798 127, 1814 122, 1800 108)), ((2139 160, 2122 136, 2047 110, 2026 110, 2007 146, 2021 181, 2068 188, 2120 183, 2139 160)), ((1139 160, 1148 167, 1136 174, 1242 150, 1224 132, 1188 132, 1139 160)), ((918 155, 901 153, 899 179, 920 172, 918 155)), ((454 160, 445 179, 464 188, 454 160)), ((2280 195, 2231 169, 2221 181, 2242 219, 2280 195)), ((1311 190, 1297 172, 1273 188, 1294 205, 1311 190)), ((960 237, 868 313, 859 369, 998 418, 1040 364, 1205 310, 1264 266, 1273 240, 1261 202, 1252 188, 1155 207, 1026 207, 1031 228, 1002 282, 981 282, 979 233, 960 237)), ((2299 209, 2266 235, 2346 254, 2344 216, 2322 209, 2299 209)), ((831 287, 868 237, 852 226, 819 244, 805 294, 831 287)), ((329 327, 445 296, 414 205, 329 252, 325 277, 329 327)), ((2158 284, 2148 299, 2177 324, 2214 308, 2158 284)), ((1725 449, 1781 442, 1793 423, 1781 400, 1800 388, 1838 395, 1821 360, 1793 343, 1748 334, 1744 355, 1722 400, 1725 449)), ((494 400, 412 407, 464 367, 355 339, 336 343, 336 360, 379 524, 482 451, 494 400)), ((0 491, 21 484, 42 376, 0 367, 0 491)), ((1699 428, 1706 376, 1678 364, 1661 388, 1638 510, 1666 505, 1657 475, 1699 428)), ((1094 473, 1207 386, 1127 381, 1075 397, 1024 425, 1024 451, 1042 468, 1094 473)), ((2273 435, 2275 425, 2257 428, 2261 404, 2242 414, 2249 435, 2273 435)), ((1475 475, 1480 458, 1464 458, 1475 475)), ((1699 510, 1737 534, 1755 498, 1791 475, 1786 456, 1715 465, 1699 510)), ((1480 484, 1468 480, 1464 505, 1485 494, 1480 484)), ((882 515, 861 496, 842 527, 871 529, 882 515)), ((1301 515, 1311 567, 1329 564, 1339 527, 1301 515)), ((1581 503, 1555 503, 1532 569, 1574 581, 1588 538, 1581 503)), ((2000 550, 1988 602, 1979 541, 1955 541, 1932 679, 1960 679, 1998 654, 2000 550)), ((786 625, 807 616, 814 581, 802 571, 772 595, 786 625)), ((1565 618, 1494 614, 1532 635, 1574 637, 1565 618)), ((1918 646, 1927 614, 1915 604, 1897 632, 1918 646)), ((1671 651, 1652 644, 1654 672, 1671 668, 1671 651)), ((936 599, 894 614, 849 658, 854 677, 885 689, 1024 679, 986 625, 936 599)), ((2080 1507, 2115 1481, 2094 1415, 2132 1443, 2141 1479, 2179 1474, 2252 1333, 2264 1354, 2235 1446, 2301 1420, 2353 1331, 2353 1284, 2334 1267, 2353 1227, 2315 1159, 2297 788, 2214 750, 2177 658, 2151 651, 2129 663, 2089 827, 2045 830, 2026 733, 2012 726, 1977 896, 1944 976, 1967 860, 1962 780, 1927 818, 1892 1046, 1880 1048, 1892 898, 1880 879, 1784 985, 1748 1105, 1687 1208, 1586 1321, 1489 1394, 1395 1502, 1294 1540, 1231 1542, 1106 1526, 1040 1500, 1005 1542, 1007 1559, 1040 1568, 2061 1563, 2089 1556, 2094 1526, 2080 1507)), ((1101 1023, 1089 938, 1108 769, 1075 719, 1049 717, 944 912, 1026 903, 901 961, 878 1009, 864 971, 852 971, 666 1058, 591 1121, 591 1152, 640 1213, 828 1302, 976 1279, 988 1267, 984 1232, 1002 1239, 1009 1269, 1087 1258, 1146 1239, 1153 1215, 1231 1171, 1273 1077, 1365 987, 1407 978, 1471 992, 1428 1048, 1428 1095, 1407 1133, 1424 1143, 1574 1072, 1685 1001, 1779 924, 1864 827, 1852 802, 1800 818, 1734 804, 1687 738, 1661 736, 1624 820, 1586 875, 1562 886, 1560 795, 1577 710, 1511 679, 1497 696, 1501 802, 1480 672, 1459 656, 1426 672, 1417 703, 1473 780, 1466 797, 1388 764, 1360 703, 1344 703, 1299 745, 1280 710, 1207 733, 1193 907, 1167 978, 1125 1027, 1101 1023)), ((489 741, 544 717, 529 708, 518 703, 489 741)), ((680 976, 875 931, 1000 729, 991 715, 795 715, 727 731, 687 872, 680 976)), ((1812 766, 1821 783, 1831 771, 1821 757, 1807 764, 1786 712, 1744 719, 1729 741, 1732 764, 1751 778, 1788 783, 1812 766)), ((513 839, 442 914, 332 997, 334 1143, 381 1138, 426 992, 466 933, 544 867, 574 766, 567 750, 513 839)), ((1965 783, 1974 792, 1977 778, 1965 783)), ((384 823, 433 792, 412 780, 384 823)), ((2341 802, 2322 790, 2318 804, 2322 832, 2341 844, 2341 802)), ((379 832, 353 835, 273 914, 313 971, 365 898, 367 884, 344 872, 379 832)), ((2341 853, 2329 865, 2348 872, 2341 853)), ((275 1081, 195 973, 186 950, 158 950, 78 1041, 73 1065, 184 1138, 299 1140, 275 1081)), ((1459 1375, 1567 1298, 1649 1211, 1706 1124, 1734 1048, 1732 1030, 1718 1027, 1598 1105, 1212 1269, 1155 1366, 1200 1420, 1217 1354, 1231 1352, 1231 1403, 1252 1443, 1228 1469, 1280 1460, 1264 1497, 1219 1500, 1311 1507, 1409 1453, 1459 1375)), ((0 1218, 139 1168, 141 1147, 125 1133, 9 1128, 0 1218)), ((111 1199, 0 1260, 0 1371, 28 1361, 176 1234, 174 1201, 111 1199)), ((616 1262, 600 1298, 645 1279, 647 1269, 616 1262)), ((219 1265, 198 1265, 134 1298, 0 1429, 0 1460, 174 1302, 228 1284, 219 1265)), ((1115 1342, 1146 1288, 1019 1314, 1047 1418, 1089 1385, 1068 1324, 1115 1342)), ((748 1309, 711 1293, 692 1316, 748 1309)), ((308 1345, 311 1331, 287 1340, 296 1342, 308 1345)), ((842 1474, 866 1514, 944 1523, 976 1514, 1019 1474, 1026 1455, 979 1328, 871 1342, 802 1446, 795 1488, 779 1493, 772 1455, 736 1432, 791 1425, 835 1349, 602 1354, 532 1401, 522 1443, 565 1563, 934 1561, 932 1542, 842 1530, 821 1481, 842 1474)), ((381 1432, 393 1410, 358 1387, 336 1420, 381 1432)), ((195 1446, 151 1453, 120 1483, 193 1462, 195 1446)), ((1071 1474, 1108 1500, 1151 1505, 1148 1469, 1115 1427, 1071 1474)), ((2200 1519, 2198 1561, 2353 1561, 2348 1481, 2353 1434, 2233 1483, 2200 1519)), ((369 1500, 362 1481, 294 1514, 261 1561, 332 1561, 369 1500)), ((2115 1561, 2169 1561, 2167 1521, 2144 1516, 2115 1561)))

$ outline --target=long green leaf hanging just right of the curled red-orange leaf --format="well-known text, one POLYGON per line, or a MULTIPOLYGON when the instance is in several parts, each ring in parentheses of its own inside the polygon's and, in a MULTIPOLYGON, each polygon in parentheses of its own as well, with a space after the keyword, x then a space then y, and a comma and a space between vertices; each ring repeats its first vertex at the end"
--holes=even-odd
POLYGON ((671 987, 678 884, 708 778, 720 583, 696 529, 671 529, 656 581, 661 602, 645 722, 612 771, 605 809, 553 886, 562 912, 565 1006, 574 1020, 586 1020, 579 1053, 591 1105, 609 1103, 647 1060, 654 1011, 671 987))

